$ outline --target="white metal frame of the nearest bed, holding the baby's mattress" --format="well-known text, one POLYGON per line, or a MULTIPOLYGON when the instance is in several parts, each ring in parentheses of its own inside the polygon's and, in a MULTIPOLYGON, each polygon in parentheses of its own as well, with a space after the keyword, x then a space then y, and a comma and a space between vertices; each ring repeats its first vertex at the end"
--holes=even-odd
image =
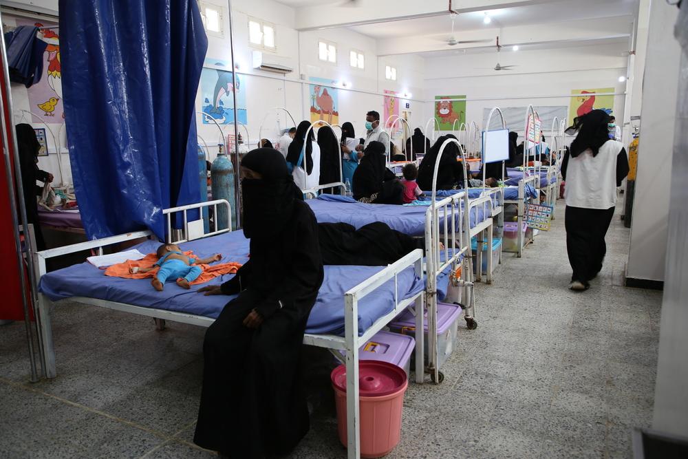
MULTIPOLYGON (((228 220, 231 220, 230 206, 226 200, 215 200, 211 202, 202 202, 199 204, 190 204, 187 206, 179 206, 172 209, 165 209, 164 215, 166 215, 167 220, 167 239, 171 242, 188 242, 193 239, 199 239, 201 237, 209 237, 212 235, 219 235, 222 233, 228 233, 231 231, 231 224, 228 224, 225 229, 217 229, 209 233, 197 233, 197 228, 203 227, 203 220, 195 220, 189 222, 186 218, 187 211, 194 209, 201 210, 204 207, 213 206, 215 209, 215 215, 217 214, 217 206, 224 205, 227 207, 228 220), (184 226, 179 234, 180 237, 173 239, 171 237, 171 216, 175 213, 183 213, 184 215, 184 226)), ((133 233, 127 233, 118 236, 105 237, 103 239, 96 239, 89 242, 84 242, 81 244, 73 244, 71 246, 65 246, 60 248, 54 248, 50 250, 43 250, 41 252, 35 253, 37 275, 42 276, 46 273, 45 261, 52 257, 58 257, 60 255, 66 255, 68 253, 78 252, 80 250, 87 249, 97 249, 98 253, 103 253, 103 247, 110 246, 112 244, 118 244, 120 242, 133 241, 140 239, 142 237, 152 237, 153 233, 151 231, 136 231, 133 233)), ((339 337, 333 334, 305 334, 303 337, 303 343, 307 345, 314 345, 321 348, 327 348, 332 350, 332 354, 338 357, 346 365, 347 374, 347 431, 349 435, 347 436, 348 442, 348 457, 350 459, 359 458, 361 454, 361 439, 360 431, 358 429, 360 424, 360 414, 358 406, 358 350, 361 346, 372 338, 372 336, 383 329, 391 319, 394 319, 400 312, 405 309, 410 309, 413 314, 416 315, 416 382, 423 383, 423 314, 418 314, 417 311, 424 310, 424 300, 425 296, 423 292, 418 292, 413 297, 408 299, 400 299, 398 293, 398 274, 403 270, 413 266, 416 276, 422 279, 423 266, 422 266, 423 254, 422 250, 416 249, 409 253, 402 259, 399 259, 394 264, 391 264, 381 270, 376 275, 366 279, 365 281, 358 284, 358 286, 352 288, 351 290, 345 292, 344 294, 344 307, 345 307, 345 333, 343 337, 339 337), (375 323, 368 328, 363 335, 358 336, 358 301, 363 299, 366 295, 376 290, 387 281, 394 279, 395 285, 395 297, 394 297, 394 309, 380 317, 375 321, 375 323), (342 357, 336 350, 345 351, 345 357, 342 357)), ((142 306, 136 306, 133 304, 120 303, 117 301, 107 301, 102 299, 87 298, 87 297, 72 297, 69 301, 74 301, 77 303, 83 303, 91 306, 100 306, 101 308, 109 308, 112 310, 118 310, 122 312, 130 312, 132 314, 139 314, 145 317, 153 317, 158 329, 164 328, 164 321, 170 320, 180 323, 189 323, 191 325, 200 325, 202 327, 208 327, 215 321, 204 316, 199 316, 195 314, 188 314, 184 312, 175 312, 169 310, 162 310, 156 308, 144 308, 142 306)), ((57 301, 56 303, 59 303, 57 301)), ((43 368, 45 369, 45 375, 47 378, 55 378, 57 376, 56 363, 55 363, 55 350, 52 337, 52 325, 50 319, 50 313, 52 308, 54 308, 54 303, 50 301, 45 295, 39 294, 38 298, 38 314, 36 314, 36 320, 39 321, 41 327, 41 343, 45 348, 44 358, 43 358, 43 368)))

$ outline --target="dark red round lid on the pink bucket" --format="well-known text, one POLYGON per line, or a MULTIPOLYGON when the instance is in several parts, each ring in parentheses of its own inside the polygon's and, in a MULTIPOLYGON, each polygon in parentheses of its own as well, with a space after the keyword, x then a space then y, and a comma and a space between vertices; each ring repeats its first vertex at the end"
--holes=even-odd
MULTIPOLYGON (((346 365, 339 365, 330 375, 332 384, 346 392, 346 365)), ((358 362, 358 395, 381 397, 394 394, 406 384, 406 372, 396 365, 374 360, 358 362)))

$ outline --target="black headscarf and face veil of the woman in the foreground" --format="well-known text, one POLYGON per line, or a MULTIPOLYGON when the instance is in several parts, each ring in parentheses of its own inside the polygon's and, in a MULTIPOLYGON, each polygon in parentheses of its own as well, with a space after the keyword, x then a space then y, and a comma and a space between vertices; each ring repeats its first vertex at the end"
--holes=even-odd
POLYGON ((244 235, 250 239, 279 233, 292 215, 294 200, 303 200, 282 153, 272 148, 251 150, 241 160, 241 167, 262 175, 261 179, 241 180, 244 235))

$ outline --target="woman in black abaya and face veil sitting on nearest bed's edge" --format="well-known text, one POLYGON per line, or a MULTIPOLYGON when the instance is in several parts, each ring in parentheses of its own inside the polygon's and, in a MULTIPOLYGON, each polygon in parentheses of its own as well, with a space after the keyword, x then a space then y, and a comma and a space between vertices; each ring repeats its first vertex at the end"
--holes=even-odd
POLYGON ((194 442, 224 456, 264 458, 288 453, 309 428, 297 369, 323 261, 315 216, 281 153, 251 151, 241 174, 250 259, 221 286, 199 290, 239 296, 206 332, 194 442))

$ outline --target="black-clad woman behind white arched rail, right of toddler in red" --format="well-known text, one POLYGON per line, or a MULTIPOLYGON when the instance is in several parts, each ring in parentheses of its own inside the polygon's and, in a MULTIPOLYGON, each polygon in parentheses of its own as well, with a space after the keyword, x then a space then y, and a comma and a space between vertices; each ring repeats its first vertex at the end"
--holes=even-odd
MULTIPOLYGON (((456 137, 452 134, 447 134, 446 136, 440 136, 435 144, 432 146, 430 151, 423 157, 420 162, 420 167, 418 167, 418 186, 424 191, 432 190, 432 178, 435 172, 435 161, 440 154, 440 148, 442 144, 447 139, 454 139, 456 137)), ((462 164, 456 160, 457 156, 460 155, 459 147, 455 143, 447 145, 447 147, 442 152, 442 158, 440 158, 440 169, 437 173, 437 189, 438 190, 451 190, 455 184, 462 186, 464 180, 464 169, 462 164)))

